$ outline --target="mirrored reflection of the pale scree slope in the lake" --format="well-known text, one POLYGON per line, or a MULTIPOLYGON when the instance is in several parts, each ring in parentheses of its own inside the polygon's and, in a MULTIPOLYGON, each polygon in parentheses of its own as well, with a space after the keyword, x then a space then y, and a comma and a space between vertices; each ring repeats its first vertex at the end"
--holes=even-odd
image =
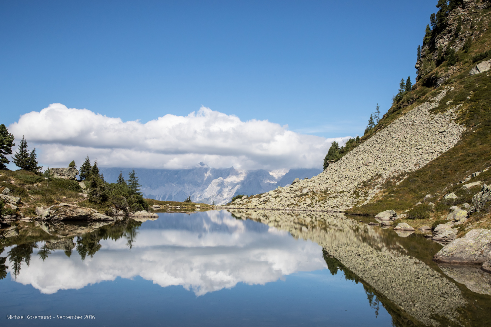
MULTIPOLYGON (((440 326, 465 324, 459 315, 467 301, 461 290, 429 265, 408 255, 401 246, 389 246, 385 231, 344 215, 281 211, 231 210, 241 219, 260 221, 310 239, 385 299, 415 318, 416 323, 440 326)), ((409 236, 409 235, 408 235, 409 236)))

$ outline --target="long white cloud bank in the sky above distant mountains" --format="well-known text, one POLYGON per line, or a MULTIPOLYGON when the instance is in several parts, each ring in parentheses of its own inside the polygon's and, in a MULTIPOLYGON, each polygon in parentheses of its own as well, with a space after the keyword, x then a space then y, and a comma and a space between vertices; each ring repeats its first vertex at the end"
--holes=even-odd
POLYGON ((142 124, 53 103, 8 128, 51 166, 74 159, 81 164, 88 155, 105 167, 181 169, 205 162, 215 168, 319 168, 331 142, 349 138, 299 134, 267 120, 243 122, 206 107, 142 124))

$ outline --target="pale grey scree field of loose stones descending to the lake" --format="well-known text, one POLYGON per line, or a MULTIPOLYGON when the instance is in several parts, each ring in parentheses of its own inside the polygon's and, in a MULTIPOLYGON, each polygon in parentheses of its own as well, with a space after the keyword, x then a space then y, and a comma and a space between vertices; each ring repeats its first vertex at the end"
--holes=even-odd
POLYGON ((430 112, 451 90, 447 88, 379 130, 318 176, 277 188, 274 196, 264 193, 231 206, 344 211, 368 203, 388 178, 404 179, 407 172, 423 167, 459 141, 465 127, 454 122, 456 108, 443 114, 430 112), (368 181, 370 185, 362 186, 368 181), (319 199, 321 192, 327 199, 319 199))

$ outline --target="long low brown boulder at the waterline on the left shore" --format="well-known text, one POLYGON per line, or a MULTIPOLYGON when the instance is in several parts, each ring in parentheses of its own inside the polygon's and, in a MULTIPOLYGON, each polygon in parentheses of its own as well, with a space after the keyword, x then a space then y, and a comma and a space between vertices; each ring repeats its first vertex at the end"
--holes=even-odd
POLYGON ((46 208, 37 220, 114 220, 92 208, 84 208, 75 204, 60 203, 46 208))

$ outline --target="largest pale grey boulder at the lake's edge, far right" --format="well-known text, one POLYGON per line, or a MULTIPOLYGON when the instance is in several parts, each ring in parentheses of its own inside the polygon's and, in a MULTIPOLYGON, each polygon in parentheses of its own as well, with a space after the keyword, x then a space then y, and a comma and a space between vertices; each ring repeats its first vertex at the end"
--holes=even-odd
POLYGON ((481 265, 491 260, 491 230, 473 229, 464 237, 444 246, 434 261, 454 264, 481 265))

